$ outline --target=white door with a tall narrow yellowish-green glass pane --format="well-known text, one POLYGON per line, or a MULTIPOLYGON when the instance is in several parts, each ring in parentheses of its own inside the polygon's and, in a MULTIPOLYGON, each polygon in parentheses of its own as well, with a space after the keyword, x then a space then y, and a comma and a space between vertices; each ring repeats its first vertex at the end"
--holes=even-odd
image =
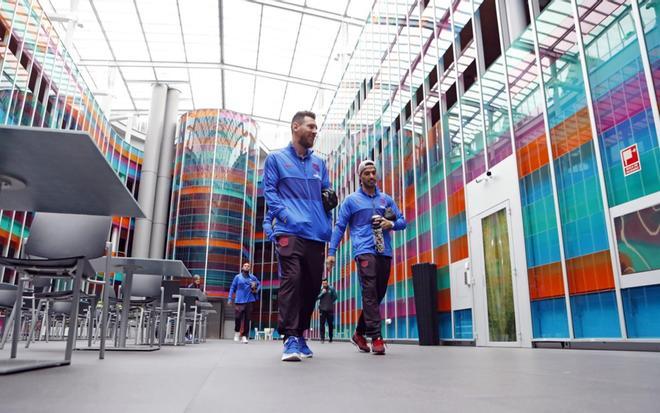
POLYGON ((520 347, 509 201, 470 219, 477 345, 520 347))

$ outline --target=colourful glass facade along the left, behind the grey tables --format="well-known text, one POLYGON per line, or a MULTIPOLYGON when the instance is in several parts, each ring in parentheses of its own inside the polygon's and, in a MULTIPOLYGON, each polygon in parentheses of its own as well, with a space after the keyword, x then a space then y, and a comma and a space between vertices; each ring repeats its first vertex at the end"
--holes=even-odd
MULTIPOLYGON (((112 129, 37 1, 0 2, 0 124, 89 133, 136 196, 142 151, 112 129)), ((18 256, 30 222, 30 213, 0 211, 0 255, 18 256)), ((130 252, 133 225, 114 218, 118 255, 130 252)), ((0 273, 0 282, 13 279, 9 270, 0 273)))

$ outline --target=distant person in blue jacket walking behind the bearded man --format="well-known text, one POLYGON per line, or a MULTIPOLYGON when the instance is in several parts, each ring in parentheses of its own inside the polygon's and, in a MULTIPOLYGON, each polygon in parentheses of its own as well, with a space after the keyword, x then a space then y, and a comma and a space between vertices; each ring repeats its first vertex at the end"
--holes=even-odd
POLYGON ((234 276, 231 283, 229 301, 227 301, 229 305, 234 302, 234 310, 236 311, 234 341, 240 340, 243 344, 248 343, 252 303, 258 300, 260 290, 259 279, 250 273, 250 263, 243 263, 241 272, 234 276))

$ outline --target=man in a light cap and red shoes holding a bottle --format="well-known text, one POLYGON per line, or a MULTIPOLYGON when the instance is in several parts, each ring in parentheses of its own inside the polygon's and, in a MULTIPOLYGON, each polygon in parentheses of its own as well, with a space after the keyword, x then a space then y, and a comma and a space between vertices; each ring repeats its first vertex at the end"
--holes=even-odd
POLYGON ((362 286, 362 312, 351 342, 361 352, 385 354, 381 336, 380 302, 387 292, 392 264, 392 231, 406 228, 406 220, 389 195, 376 186, 376 164, 364 160, 358 166, 360 188, 341 205, 332 233, 326 266, 335 265, 337 246, 350 226, 353 259, 362 286), (365 336, 371 338, 371 348, 365 336))

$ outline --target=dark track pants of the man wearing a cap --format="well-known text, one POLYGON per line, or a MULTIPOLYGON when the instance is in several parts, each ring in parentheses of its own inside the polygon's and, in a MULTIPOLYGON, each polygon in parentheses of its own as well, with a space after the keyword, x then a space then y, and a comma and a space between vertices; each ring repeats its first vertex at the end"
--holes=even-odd
POLYGON ((387 292, 392 258, 362 254, 358 255, 356 260, 362 287, 362 311, 355 332, 372 338, 379 337, 381 335, 380 302, 387 292))

